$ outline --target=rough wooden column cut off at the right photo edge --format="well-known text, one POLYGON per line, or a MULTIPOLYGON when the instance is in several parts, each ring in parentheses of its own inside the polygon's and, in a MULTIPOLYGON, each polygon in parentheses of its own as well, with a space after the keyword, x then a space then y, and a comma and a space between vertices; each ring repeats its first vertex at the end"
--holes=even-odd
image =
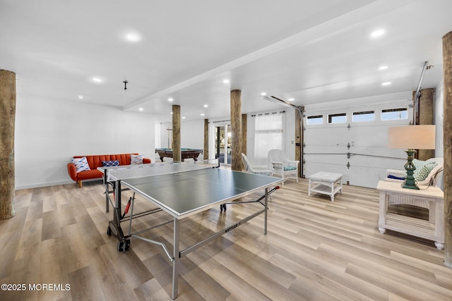
POLYGON ((452 268, 452 32, 443 37, 444 264, 452 268))

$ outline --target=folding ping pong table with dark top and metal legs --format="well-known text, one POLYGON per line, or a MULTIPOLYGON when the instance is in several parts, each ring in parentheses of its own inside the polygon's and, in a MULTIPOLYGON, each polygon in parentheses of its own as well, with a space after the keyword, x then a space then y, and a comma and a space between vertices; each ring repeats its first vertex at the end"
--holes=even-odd
POLYGON ((268 195, 278 188, 279 183, 284 181, 283 178, 218 168, 218 164, 210 164, 210 161, 197 161, 196 164, 169 161, 159 164, 111 166, 98 169, 104 173, 107 198, 109 198, 110 192, 113 192, 114 195, 114 199, 109 199, 114 207, 114 212, 113 220, 109 221, 107 227, 107 234, 114 234, 117 237, 119 240, 117 250, 119 252, 129 249, 130 238, 138 238, 162 247, 169 262, 172 263, 172 300, 178 295, 180 259, 186 254, 260 214, 264 214, 263 233, 267 233, 268 195), (112 186, 112 190, 110 190, 110 186, 112 186), (133 197, 129 199, 124 214, 121 214, 121 191, 125 189, 131 190, 133 197), (258 190, 265 190, 265 194, 259 199, 251 202, 236 201, 231 203, 258 190), (155 209, 138 214, 133 213, 136 193, 152 202, 155 209), (254 211, 241 221, 226 226, 222 231, 218 231, 184 250, 179 250, 179 226, 182 219, 217 206, 220 206, 222 211, 223 209, 226 210, 226 204, 242 203, 255 203, 263 206, 260 206, 258 211, 254 211), (131 209, 130 214, 126 216, 129 208, 131 209), (172 216, 172 220, 137 233, 131 233, 133 219, 157 211, 165 211, 169 216, 172 216), (121 228, 121 223, 124 221, 129 222, 129 231, 126 234, 121 228), (144 231, 150 231, 171 222, 174 225, 172 252, 169 251, 165 243, 140 235, 144 231))

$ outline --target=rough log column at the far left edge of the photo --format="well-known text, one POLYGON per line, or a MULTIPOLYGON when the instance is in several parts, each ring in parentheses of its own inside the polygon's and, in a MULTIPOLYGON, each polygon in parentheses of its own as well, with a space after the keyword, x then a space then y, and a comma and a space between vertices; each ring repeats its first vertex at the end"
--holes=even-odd
POLYGON ((0 70, 0 116, 0 219, 11 219, 16 215, 16 73, 7 70, 0 70))

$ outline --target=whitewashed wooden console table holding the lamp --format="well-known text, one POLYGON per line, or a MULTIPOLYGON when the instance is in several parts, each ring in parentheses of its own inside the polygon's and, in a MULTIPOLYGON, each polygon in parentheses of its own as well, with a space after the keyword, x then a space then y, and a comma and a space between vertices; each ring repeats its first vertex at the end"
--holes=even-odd
POLYGON ((433 240, 439 250, 444 248, 444 192, 430 186, 420 190, 402 188, 400 183, 379 181, 380 192, 379 231, 386 229, 433 240), (427 189, 425 189, 427 188, 427 189), (388 205, 411 204, 429 209, 429 220, 388 212, 388 205))

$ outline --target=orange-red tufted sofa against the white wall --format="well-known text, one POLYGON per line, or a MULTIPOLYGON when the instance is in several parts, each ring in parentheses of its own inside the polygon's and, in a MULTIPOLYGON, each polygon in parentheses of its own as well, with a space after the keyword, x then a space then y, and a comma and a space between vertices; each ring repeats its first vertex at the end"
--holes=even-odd
MULTIPOLYGON (((80 171, 77 173, 77 168, 73 163, 68 163, 68 173, 72 180, 78 183, 78 186, 82 188, 83 180, 90 180, 95 178, 102 178, 102 173, 97 170, 97 167, 102 166, 102 161, 114 161, 119 160, 119 165, 130 165, 131 154, 100 154, 94 156, 85 156, 90 166, 89 171, 80 171)), ((138 155, 138 154, 134 154, 138 155)), ((74 159, 82 158, 83 156, 73 156, 74 159)), ((143 158, 143 164, 151 163, 150 159, 143 158)))

